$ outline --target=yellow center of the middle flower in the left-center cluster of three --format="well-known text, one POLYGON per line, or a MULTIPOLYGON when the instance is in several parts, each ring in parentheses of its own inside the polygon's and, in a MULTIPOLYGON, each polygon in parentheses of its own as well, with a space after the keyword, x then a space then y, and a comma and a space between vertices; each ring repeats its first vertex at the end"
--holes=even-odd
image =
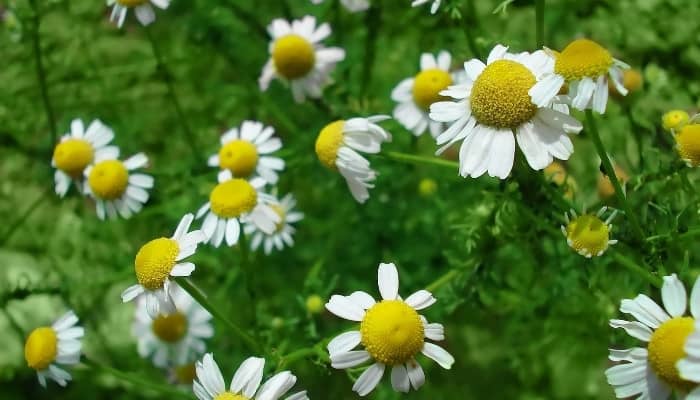
POLYGON ((258 204, 258 193, 245 179, 231 179, 216 185, 209 195, 211 211, 221 218, 235 218, 258 204))

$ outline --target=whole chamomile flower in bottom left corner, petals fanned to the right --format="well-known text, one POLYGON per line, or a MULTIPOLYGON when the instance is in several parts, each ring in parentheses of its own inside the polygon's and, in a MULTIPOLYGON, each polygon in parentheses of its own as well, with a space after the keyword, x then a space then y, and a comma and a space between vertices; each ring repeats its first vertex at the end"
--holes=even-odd
POLYGON ((78 317, 73 311, 65 313, 51 326, 36 328, 24 344, 24 358, 30 368, 36 370, 41 386, 46 387, 46 378, 66 386, 71 375, 60 366, 80 362, 81 340, 85 330, 76 326, 78 317))

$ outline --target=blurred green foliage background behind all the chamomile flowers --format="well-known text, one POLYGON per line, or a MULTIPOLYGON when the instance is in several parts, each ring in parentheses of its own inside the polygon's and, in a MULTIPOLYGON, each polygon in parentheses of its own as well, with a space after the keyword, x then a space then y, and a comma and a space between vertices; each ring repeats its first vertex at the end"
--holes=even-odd
MULTIPOLYGON (((167 68, 158 69, 146 31, 130 12, 123 29, 109 23, 102 1, 39 0, 39 14, 26 0, 0 3, 0 393, 3 399, 150 399, 157 391, 119 379, 106 370, 78 366, 74 382, 41 388, 26 367, 26 335, 73 308, 86 327, 85 354, 96 362, 166 384, 164 373, 139 358, 131 337, 133 305, 119 294, 134 282, 133 257, 146 241, 169 235, 185 212, 207 200, 216 172, 205 165, 218 151, 218 135, 244 119, 276 128, 287 162, 279 193, 292 192, 306 218, 296 246, 269 257, 256 254, 250 304, 239 274, 237 249, 203 246, 194 256, 194 282, 231 319, 257 332, 272 354, 287 354, 330 338, 350 324, 327 312, 311 314, 307 296, 365 290, 377 295, 379 262, 396 262, 401 293, 438 280, 438 303, 425 312, 442 322, 442 344, 455 356, 451 371, 420 356, 426 385, 399 395, 385 376, 372 399, 611 399, 605 382, 609 347, 634 343, 607 326, 623 298, 656 289, 616 262, 619 252, 692 285, 700 248, 692 235, 700 225, 697 171, 679 162, 661 115, 695 110, 700 94, 700 3, 687 0, 546 2, 546 44, 563 48, 586 36, 639 70, 643 88, 613 100, 598 119, 615 162, 631 179, 627 192, 645 230, 658 238, 632 243, 624 221, 613 237, 620 244, 587 260, 571 251, 559 232, 567 211, 553 201, 563 189, 516 162, 514 178, 462 179, 455 170, 371 158, 380 176, 371 199, 358 205, 342 178, 316 160, 318 131, 338 118, 391 114, 389 94, 418 71, 422 52, 447 49, 454 67, 487 54, 496 43, 513 51, 535 47, 532 1, 445 1, 431 16, 409 1, 375 1, 369 12, 350 14, 337 0, 319 6, 306 0, 174 0, 150 27, 167 68), (471 4, 471 5, 470 5, 471 4), (473 7, 472 7, 473 6, 473 7), (268 57, 262 30, 277 17, 314 15, 329 22, 326 45, 346 49, 321 101, 295 104, 279 82, 261 93, 257 78, 268 57), (37 21, 40 25, 37 31, 37 21), (122 155, 143 151, 156 186, 144 211, 131 220, 104 222, 94 205, 73 190, 53 194, 51 136, 35 64, 35 39, 47 70, 48 97, 58 134, 70 121, 99 118, 116 132, 122 155), (169 74, 169 75, 164 75, 169 74), (168 97, 172 78, 196 149, 168 97), (196 151, 198 150, 198 151, 196 151), (437 190, 418 191, 422 179, 437 190), (29 213, 27 213, 29 211, 29 213), (26 218, 25 218, 26 216, 26 218), (660 267, 659 267, 660 266, 660 267), (450 279, 440 281, 444 274, 450 279), (228 284, 224 284, 227 282, 228 284), (254 326, 251 315, 258 316, 254 326), (9 318, 9 319, 8 319, 9 318)), ((582 115, 577 114, 582 119, 582 115)), ((390 151, 431 155, 435 144, 394 121, 385 124, 390 151)), ((573 206, 597 209, 598 158, 584 131, 567 163, 578 186, 573 206)), ((522 158, 518 154, 518 158, 522 158)), ((208 343, 226 380, 252 355, 216 324, 208 343)), ((270 371, 274 359, 268 360, 270 371)), ((352 399, 343 371, 316 359, 290 368, 312 399, 352 399)), ((186 390, 186 389, 185 389, 186 390)), ((194 396, 192 396, 194 398, 194 396)))

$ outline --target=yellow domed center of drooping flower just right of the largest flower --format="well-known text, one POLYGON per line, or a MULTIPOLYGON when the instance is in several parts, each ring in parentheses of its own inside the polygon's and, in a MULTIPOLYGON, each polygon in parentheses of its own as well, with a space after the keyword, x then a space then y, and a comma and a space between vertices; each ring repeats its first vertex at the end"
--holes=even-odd
POLYGON ((606 75, 613 64, 612 55, 598 43, 577 39, 569 43, 554 63, 554 72, 567 82, 606 75))

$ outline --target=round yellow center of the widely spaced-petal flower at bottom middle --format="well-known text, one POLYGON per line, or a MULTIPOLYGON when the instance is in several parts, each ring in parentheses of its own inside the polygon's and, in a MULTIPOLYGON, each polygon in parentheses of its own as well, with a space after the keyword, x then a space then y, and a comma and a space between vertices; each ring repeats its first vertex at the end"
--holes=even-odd
POLYGON ((386 365, 403 364, 423 348, 423 322, 401 300, 384 300, 367 310, 360 333, 367 352, 386 365))

